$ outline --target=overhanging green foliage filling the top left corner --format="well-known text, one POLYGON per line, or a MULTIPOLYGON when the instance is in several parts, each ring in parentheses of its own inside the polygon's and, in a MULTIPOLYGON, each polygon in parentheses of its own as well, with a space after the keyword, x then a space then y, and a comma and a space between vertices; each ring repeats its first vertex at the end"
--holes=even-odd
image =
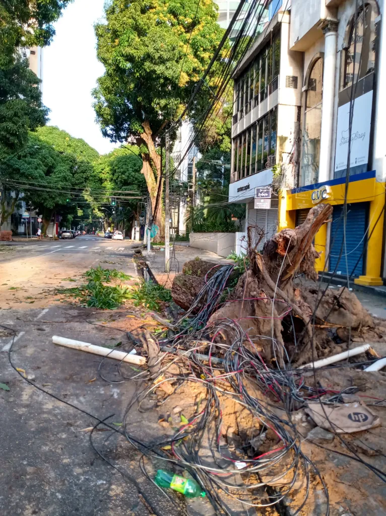
POLYGON ((19 46, 45 46, 55 35, 54 23, 72 0, 2 0, 0 67, 9 66, 19 46))

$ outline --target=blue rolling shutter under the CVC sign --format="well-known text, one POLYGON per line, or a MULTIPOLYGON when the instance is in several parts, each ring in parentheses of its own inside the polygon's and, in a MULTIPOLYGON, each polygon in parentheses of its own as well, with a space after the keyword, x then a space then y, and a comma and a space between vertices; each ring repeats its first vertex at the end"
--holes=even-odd
POLYGON ((358 202, 347 205, 346 251, 348 270, 344 246, 339 260, 343 243, 343 205, 334 206, 331 225, 330 272, 334 271, 336 267, 336 273, 347 275, 348 272, 351 275, 355 267, 353 276, 358 277, 363 274, 363 249, 366 245, 364 233, 366 231, 368 204, 366 202, 358 202), (358 265, 356 265, 357 262, 358 265))

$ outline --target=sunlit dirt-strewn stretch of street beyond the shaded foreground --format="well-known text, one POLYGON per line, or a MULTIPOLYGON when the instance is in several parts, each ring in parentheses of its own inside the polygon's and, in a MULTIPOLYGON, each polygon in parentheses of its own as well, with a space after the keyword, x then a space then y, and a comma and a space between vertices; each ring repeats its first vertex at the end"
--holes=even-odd
POLYGON ((129 240, 93 235, 71 240, 3 243, 0 245, 0 308, 45 308, 55 304, 54 288, 75 286, 74 280, 81 280, 87 269, 99 264, 136 276, 131 261, 135 245, 129 240))

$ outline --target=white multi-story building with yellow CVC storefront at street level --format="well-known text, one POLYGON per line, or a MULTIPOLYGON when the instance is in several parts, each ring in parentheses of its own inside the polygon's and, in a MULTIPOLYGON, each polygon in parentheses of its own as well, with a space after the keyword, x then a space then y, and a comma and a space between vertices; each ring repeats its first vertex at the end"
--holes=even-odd
POLYGON ((386 277, 383 5, 292 0, 235 77, 230 202, 247 203, 248 223, 265 238, 301 223, 318 202, 331 204, 332 221, 315 236, 317 267, 365 285, 386 277), (277 184, 278 171, 277 201, 254 209, 254 188, 277 184))

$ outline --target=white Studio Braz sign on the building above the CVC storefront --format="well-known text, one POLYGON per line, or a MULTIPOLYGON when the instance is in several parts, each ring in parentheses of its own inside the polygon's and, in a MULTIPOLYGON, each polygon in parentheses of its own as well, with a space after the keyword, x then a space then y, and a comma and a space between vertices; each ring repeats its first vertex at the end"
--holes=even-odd
MULTIPOLYGON (((365 165, 369 161, 371 110, 373 91, 359 96, 354 101, 351 131, 350 168, 365 165)), ((348 127, 350 103, 338 108, 337 143, 335 148, 335 171, 347 168, 348 127)))

